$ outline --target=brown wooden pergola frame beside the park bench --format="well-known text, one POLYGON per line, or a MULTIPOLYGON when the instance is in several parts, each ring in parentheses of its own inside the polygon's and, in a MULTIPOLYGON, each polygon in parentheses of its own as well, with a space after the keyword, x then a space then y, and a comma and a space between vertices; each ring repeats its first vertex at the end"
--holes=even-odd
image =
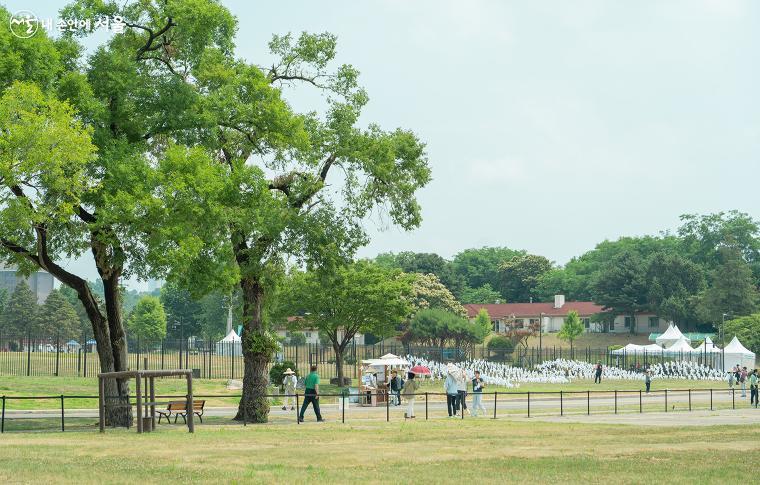
MULTIPOLYGON (((184 376, 187 380, 187 402, 185 412, 187 413, 187 430, 190 433, 195 432, 193 423, 193 372, 190 369, 167 369, 167 370, 130 370, 122 372, 102 372, 98 374, 98 417, 100 421, 100 432, 105 433, 106 429, 106 396, 105 380, 106 379, 134 379, 135 395, 137 398, 137 432, 142 433, 143 418, 150 418, 150 428, 156 428, 156 392, 154 380, 156 377, 173 377, 184 376), (142 382, 144 380, 144 386, 142 382), (144 411, 143 411, 144 409, 144 411), (143 416, 145 414, 145 416, 143 416)), ((131 406, 130 404, 111 404, 110 406, 131 406)), ((150 431, 151 429, 147 430, 150 431)))

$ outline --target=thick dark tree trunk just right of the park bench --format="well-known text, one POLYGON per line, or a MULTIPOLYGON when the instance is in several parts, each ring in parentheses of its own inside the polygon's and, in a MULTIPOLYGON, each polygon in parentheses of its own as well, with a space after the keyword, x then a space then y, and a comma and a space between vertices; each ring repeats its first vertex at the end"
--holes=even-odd
POLYGON ((262 352, 254 352, 249 345, 252 338, 266 331, 262 320, 264 289, 253 277, 242 278, 243 290, 243 396, 240 398, 236 420, 266 423, 269 416, 267 393, 267 364, 271 358, 262 352))

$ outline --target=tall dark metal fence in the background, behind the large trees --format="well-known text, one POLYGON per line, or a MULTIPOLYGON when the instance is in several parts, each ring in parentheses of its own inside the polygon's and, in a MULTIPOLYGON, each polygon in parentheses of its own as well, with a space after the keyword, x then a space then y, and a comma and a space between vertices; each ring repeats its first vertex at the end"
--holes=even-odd
MULTIPOLYGON (((241 379, 243 356, 239 342, 216 342, 190 339, 128 340, 130 369, 195 369, 202 379, 241 379), (147 359, 147 361, 146 361, 147 359), (147 362, 147 367, 146 367, 147 362)), ((350 345, 343 355, 344 376, 357 379, 361 361, 386 353, 412 354, 438 362, 490 360, 507 362, 520 367, 532 367, 556 359, 602 362, 626 369, 644 369, 658 362, 690 360, 721 369, 722 354, 622 354, 613 355, 607 349, 586 348, 523 348, 514 352, 489 350, 485 345, 466 349, 448 347, 405 347, 400 343, 350 345)), ((275 363, 293 362, 301 374, 316 365, 320 374, 332 379, 337 376, 335 351, 320 344, 283 345, 275 363)), ((274 364, 274 363, 273 363, 274 364)), ((66 340, 59 336, 35 337, 0 334, 0 375, 88 377, 100 372, 97 348, 92 339, 66 340)))

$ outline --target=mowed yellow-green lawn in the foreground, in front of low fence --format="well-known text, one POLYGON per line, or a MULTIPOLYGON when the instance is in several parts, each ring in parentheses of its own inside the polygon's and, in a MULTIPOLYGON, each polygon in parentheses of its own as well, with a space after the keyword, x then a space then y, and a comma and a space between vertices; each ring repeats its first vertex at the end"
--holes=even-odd
POLYGON ((415 421, 0 438, 0 483, 743 483, 760 427, 415 421))

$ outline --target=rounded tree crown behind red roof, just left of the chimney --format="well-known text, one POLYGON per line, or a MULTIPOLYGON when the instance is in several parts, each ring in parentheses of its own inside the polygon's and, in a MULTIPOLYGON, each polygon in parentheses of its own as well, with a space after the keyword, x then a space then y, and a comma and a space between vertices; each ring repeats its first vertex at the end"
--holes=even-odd
POLYGON ((499 266, 501 294, 507 301, 527 302, 538 297, 541 277, 552 269, 552 262, 535 254, 520 254, 499 266))

